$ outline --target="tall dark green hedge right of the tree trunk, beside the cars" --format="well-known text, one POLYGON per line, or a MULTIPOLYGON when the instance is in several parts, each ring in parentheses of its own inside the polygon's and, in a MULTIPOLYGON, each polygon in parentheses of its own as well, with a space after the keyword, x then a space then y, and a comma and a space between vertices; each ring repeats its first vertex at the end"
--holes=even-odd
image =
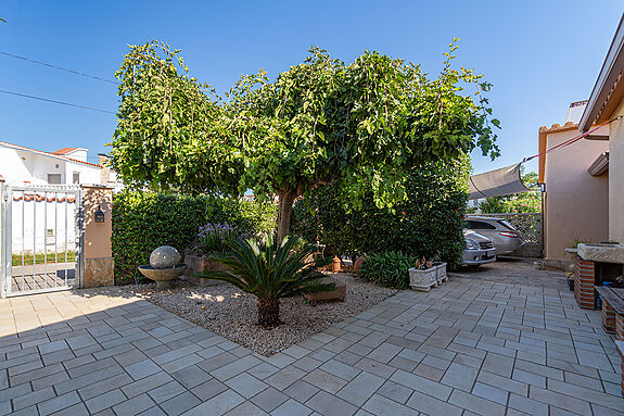
POLYGON ((360 207, 345 206, 338 187, 320 187, 295 204, 292 229, 327 244, 327 255, 396 251, 455 267, 464 248, 469 173, 468 157, 415 169, 406 177, 407 200, 392 209, 377 207, 372 196, 360 207))

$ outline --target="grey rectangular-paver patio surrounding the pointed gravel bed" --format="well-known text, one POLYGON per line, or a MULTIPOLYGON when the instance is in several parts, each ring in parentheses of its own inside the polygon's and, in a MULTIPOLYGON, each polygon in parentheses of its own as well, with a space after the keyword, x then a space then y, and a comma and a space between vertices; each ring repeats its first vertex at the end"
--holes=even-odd
POLYGON ((522 262, 268 358, 115 288, 0 300, 0 415, 624 414, 599 312, 522 262))

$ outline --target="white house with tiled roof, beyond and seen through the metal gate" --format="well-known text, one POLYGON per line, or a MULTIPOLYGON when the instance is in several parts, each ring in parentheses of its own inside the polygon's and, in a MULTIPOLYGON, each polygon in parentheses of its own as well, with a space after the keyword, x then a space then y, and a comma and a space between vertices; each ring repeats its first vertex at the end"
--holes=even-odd
POLYGON ((75 251, 77 201, 71 188, 81 184, 122 187, 115 172, 106 166, 107 156, 99 155, 95 164, 87 161, 87 153, 82 148, 50 153, 0 141, 0 178, 4 184, 50 185, 48 190, 16 189, 7 196, 11 198, 13 254, 75 251))

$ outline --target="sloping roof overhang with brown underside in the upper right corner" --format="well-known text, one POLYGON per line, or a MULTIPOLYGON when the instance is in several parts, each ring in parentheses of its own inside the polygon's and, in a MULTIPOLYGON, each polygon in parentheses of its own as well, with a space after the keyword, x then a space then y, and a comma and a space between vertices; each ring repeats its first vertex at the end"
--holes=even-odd
POLYGON ((624 99, 624 15, 611 41, 598 79, 589 96, 589 102, 578 123, 581 131, 587 131, 594 124, 609 121, 624 99))

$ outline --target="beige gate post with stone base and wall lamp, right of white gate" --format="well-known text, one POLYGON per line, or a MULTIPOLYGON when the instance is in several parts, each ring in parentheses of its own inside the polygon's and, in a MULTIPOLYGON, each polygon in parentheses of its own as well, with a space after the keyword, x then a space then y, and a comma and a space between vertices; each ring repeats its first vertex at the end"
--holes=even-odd
POLYGON ((113 235, 113 188, 105 185, 82 185, 84 190, 84 288, 113 286, 114 260, 111 245, 113 235), (95 213, 104 213, 103 223, 95 222, 95 213))

